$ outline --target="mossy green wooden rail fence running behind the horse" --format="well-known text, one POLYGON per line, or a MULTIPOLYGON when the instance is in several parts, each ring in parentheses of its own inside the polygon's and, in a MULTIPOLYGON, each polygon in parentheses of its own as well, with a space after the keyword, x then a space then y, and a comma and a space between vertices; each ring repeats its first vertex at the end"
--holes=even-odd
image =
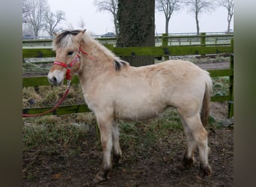
MULTIPOLYGON (((112 39, 110 39, 112 40, 112 39)), ((36 41, 33 41, 36 43, 36 41)), ((41 40, 40 43, 46 43, 45 40, 41 40)), ((47 40, 47 43, 51 43, 51 40, 47 40)), ((153 55, 156 57, 163 56, 167 59, 169 56, 174 55, 210 55, 210 54, 230 54, 230 67, 227 70, 208 70, 211 77, 217 76, 229 76, 229 91, 225 96, 211 96, 212 102, 228 101, 228 117, 234 115, 234 40, 232 34, 222 35, 196 35, 196 36, 168 36, 162 34, 162 45, 154 47, 115 47, 113 44, 103 43, 109 48, 115 55, 129 56, 129 55, 153 55), (215 38, 214 41, 210 38, 215 38), (224 38, 222 40, 221 38, 224 38), (186 44, 171 46, 171 42, 175 40, 186 39, 186 44), (200 42, 198 43, 198 40, 200 42), (217 41, 221 40, 222 43, 217 41), (191 41, 191 42, 190 42, 191 41), (210 42, 209 42, 210 41, 210 42), (223 42, 225 41, 225 42, 223 42), (228 41, 228 42, 227 42, 228 41), (195 43, 196 42, 196 43, 195 43), (169 44, 169 45, 168 45, 169 44)), ((24 58, 48 58, 54 57, 55 52, 50 48, 23 48, 22 55, 24 58)), ((77 76, 73 77, 72 84, 78 84, 79 79, 77 76)), ((46 76, 29 77, 22 79, 23 87, 34 87, 39 85, 49 85, 46 76)), ((53 107, 53 106, 52 106, 53 107)), ((52 107, 46 108, 23 108, 23 114, 38 114, 43 111, 49 110, 52 107)), ((72 114, 78 112, 90 111, 87 105, 65 105, 58 107, 55 111, 47 114, 72 114)))

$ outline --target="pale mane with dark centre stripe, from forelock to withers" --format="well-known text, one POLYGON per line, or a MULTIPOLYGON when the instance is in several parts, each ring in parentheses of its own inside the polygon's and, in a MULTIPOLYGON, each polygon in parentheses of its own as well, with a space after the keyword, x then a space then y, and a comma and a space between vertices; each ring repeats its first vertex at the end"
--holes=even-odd
MULTIPOLYGON (((53 40, 52 49, 55 50, 57 48, 62 48, 62 49, 73 48, 75 44, 72 36, 76 36, 76 34, 79 34, 79 32, 81 31, 82 30, 62 31, 60 34, 57 34, 55 39, 53 40)), ((107 49, 105 46, 100 44, 97 40, 94 40, 88 34, 84 34, 83 39, 86 43, 88 43, 89 46, 90 45, 97 46, 98 49, 100 49, 103 53, 105 53, 110 58, 112 58, 116 71, 119 71, 121 70, 122 67, 129 65, 127 61, 122 61, 120 58, 115 56, 109 49, 107 49)))

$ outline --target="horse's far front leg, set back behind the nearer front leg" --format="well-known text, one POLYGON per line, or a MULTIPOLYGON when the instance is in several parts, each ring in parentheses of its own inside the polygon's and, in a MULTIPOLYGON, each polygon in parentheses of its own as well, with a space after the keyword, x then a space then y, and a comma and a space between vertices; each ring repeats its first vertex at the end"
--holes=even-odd
POLYGON ((112 126, 112 138, 113 138, 113 164, 118 165, 119 160, 121 159, 122 156, 122 151, 119 145, 119 129, 118 129, 118 123, 113 123, 112 126))

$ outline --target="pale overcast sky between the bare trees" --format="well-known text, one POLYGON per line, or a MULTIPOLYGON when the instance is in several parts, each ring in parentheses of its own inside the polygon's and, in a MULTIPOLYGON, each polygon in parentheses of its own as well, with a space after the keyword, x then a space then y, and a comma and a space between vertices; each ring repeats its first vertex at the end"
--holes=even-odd
MULTIPOLYGON (((94 5, 94 0, 48 0, 50 10, 63 10, 66 13, 66 22, 63 22, 64 28, 79 28, 79 22, 83 20, 85 28, 94 34, 104 34, 107 31, 115 32, 112 14, 106 11, 98 11, 94 5), (67 23, 68 22, 68 23, 67 23)), ((199 26, 201 32, 222 32, 228 28, 227 21, 228 10, 224 7, 217 7, 210 13, 202 13, 199 17, 199 26)), ((194 14, 189 12, 186 7, 175 12, 169 22, 169 33, 189 33, 196 32, 194 14)), ((162 12, 155 14, 156 34, 165 32, 165 16, 162 12)), ((232 19, 231 28, 234 28, 232 19)))

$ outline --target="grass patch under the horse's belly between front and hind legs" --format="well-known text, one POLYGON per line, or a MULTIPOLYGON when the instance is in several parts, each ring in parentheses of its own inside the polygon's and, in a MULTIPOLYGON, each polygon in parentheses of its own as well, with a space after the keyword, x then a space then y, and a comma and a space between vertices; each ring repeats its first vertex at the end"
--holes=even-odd
POLYGON ((183 131, 179 115, 174 108, 167 109, 161 116, 139 122, 121 122, 121 144, 129 147, 150 147, 173 131, 183 131))

